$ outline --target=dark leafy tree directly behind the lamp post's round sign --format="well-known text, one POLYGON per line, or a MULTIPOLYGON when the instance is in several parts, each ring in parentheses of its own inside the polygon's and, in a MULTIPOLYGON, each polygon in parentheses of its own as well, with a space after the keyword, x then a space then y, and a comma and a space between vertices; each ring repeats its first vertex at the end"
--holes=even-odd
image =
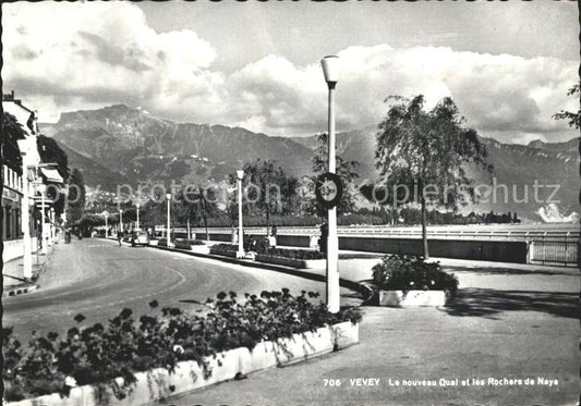
MULTIPOLYGON (((326 133, 318 134, 317 149, 313 157, 313 172, 315 175, 312 177, 314 182, 316 177, 328 170, 328 135, 326 133)), ((355 180, 359 177, 356 168, 358 161, 349 161, 340 156, 336 157, 336 173, 341 177, 343 184, 343 196, 337 206, 337 214, 347 214, 355 210, 355 180)), ((327 210, 323 208, 315 198, 314 187, 312 188, 312 195, 307 198, 307 205, 305 205, 305 211, 307 214, 316 214, 318 217, 325 217, 327 210)))

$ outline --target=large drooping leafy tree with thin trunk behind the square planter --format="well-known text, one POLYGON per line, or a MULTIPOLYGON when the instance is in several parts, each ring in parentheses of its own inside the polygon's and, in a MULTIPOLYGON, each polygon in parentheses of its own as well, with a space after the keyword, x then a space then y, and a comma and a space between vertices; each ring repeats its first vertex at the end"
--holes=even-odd
MULTIPOLYGON (((452 99, 446 97, 426 111, 422 95, 413 99, 389 97, 391 104, 379 123, 376 168, 378 186, 407 190, 399 202, 419 202, 424 258, 427 249, 427 205, 457 209, 473 198, 473 181, 465 167, 471 163, 488 170, 486 149, 474 130, 463 126, 452 99)), ((396 200, 394 200, 396 201, 396 200)))

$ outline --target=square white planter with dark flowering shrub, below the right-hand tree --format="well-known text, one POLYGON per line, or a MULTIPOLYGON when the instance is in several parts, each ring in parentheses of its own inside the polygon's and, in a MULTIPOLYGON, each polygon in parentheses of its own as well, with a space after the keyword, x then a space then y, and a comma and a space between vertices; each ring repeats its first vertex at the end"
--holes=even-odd
POLYGON ((414 256, 385 256, 373 267, 373 281, 385 306, 444 306, 458 291, 453 273, 414 256))

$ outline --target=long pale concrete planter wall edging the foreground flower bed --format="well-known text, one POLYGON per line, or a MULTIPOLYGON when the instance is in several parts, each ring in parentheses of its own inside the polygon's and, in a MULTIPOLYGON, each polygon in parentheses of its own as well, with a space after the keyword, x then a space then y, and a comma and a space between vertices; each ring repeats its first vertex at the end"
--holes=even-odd
MULTIPOLYGON (((93 385, 73 387, 68 397, 59 394, 45 395, 34 399, 9 403, 11 406, 88 406, 88 405, 143 405, 178 395, 214 383, 233 379, 238 373, 247 374, 265 368, 285 366, 337 348, 359 343, 359 324, 350 321, 320 328, 315 332, 294 334, 291 339, 258 343, 253 350, 235 348, 208 357, 211 374, 204 378, 203 369, 195 361, 182 361, 170 373, 165 368, 135 373, 137 382, 126 397, 118 399, 110 387, 99 401, 98 390, 93 385)), ((121 385, 123 380, 116 382, 121 385)))

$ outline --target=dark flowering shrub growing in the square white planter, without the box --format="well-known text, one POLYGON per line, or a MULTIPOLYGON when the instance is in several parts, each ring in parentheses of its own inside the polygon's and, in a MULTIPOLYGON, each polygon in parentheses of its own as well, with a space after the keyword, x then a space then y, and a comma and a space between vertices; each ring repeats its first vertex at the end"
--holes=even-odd
POLYGON ((386 291, 448 291, 456 296, 458 278, 444 272, 439 262, 425 262, 422 257, 391 255, 373 267, 375 284, 386 291))

